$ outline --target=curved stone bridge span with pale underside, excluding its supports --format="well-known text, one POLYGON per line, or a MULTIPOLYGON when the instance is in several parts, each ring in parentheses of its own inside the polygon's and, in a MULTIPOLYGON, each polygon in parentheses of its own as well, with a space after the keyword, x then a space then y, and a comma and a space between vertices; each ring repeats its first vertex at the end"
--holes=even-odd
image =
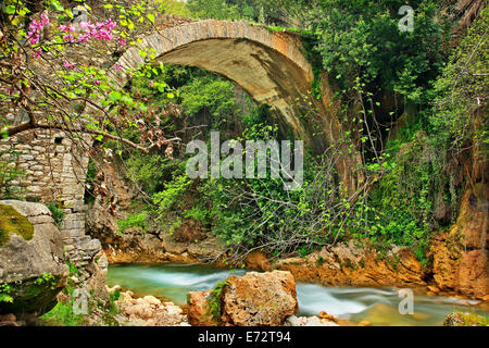
MULTIPOLYGON (((130 72, 151 60, 190 65, 224 76, 246 90, 259 104, 268 104, 293 129, 298 138, 311 142, 293 104, 311 88, 314 74, 301 52, 299 37, 247 22, 208 20, 159 30, 141 38, 116 62, 120 70, 108 76, 121 88, 130 72)), ((115 66, 115 64, 114 64, 115 66)))

